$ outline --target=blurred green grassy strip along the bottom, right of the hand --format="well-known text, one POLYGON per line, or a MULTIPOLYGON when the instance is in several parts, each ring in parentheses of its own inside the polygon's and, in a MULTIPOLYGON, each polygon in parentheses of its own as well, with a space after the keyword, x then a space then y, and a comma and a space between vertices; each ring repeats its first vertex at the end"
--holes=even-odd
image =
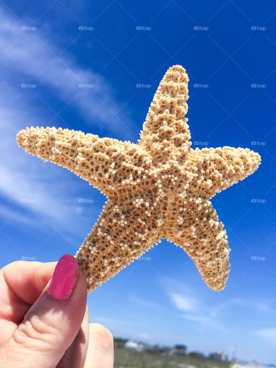
POLYGON ((162 356, 152 351, 137 351, 115 348, 114 368, 229 368, 226 362, 207 358, 192 358, 189 355, 174 354, 162 356))

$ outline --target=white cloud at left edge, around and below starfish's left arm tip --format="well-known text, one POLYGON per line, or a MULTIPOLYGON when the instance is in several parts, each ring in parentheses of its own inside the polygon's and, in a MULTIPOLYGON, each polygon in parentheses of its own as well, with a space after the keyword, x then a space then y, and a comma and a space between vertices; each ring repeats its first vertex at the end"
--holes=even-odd
MULTIPOLYGON (((6 91, 0 100, 0 111, 3 111, 18 95, 13 88, 3 83, 0 84, 0 88, 5 88, 6 91)), ((58 217, 64 221, 78 208, 78 203, 69 201, 64 193, 64 187, 69 186, 57 174, 60 168, 57 166, 50 168, 49 163, 43 164, 40 159, 19 149, 15 141, 15 135, 20 130, 19 122, 25 120, 30 123, 29 125, 36 125, 39 113, 39 110, 33 111, 28 106, 28 100, 23 98, 17 103, 17 109, 11 105, 1 114, 0 190, 7 199, 10 199, 11 204, 17 205, 17 208, 23 206, 32 213, 37 210, 47 217, 58 217), (54 184, 54 191, 52 188, 49 190, 47 181, 54 184), (75 205, 72 205, 72 202, 75 205), (59 211, 55 210, 57 206, 59 211)), ((8 208, 11 204, 7 205, 7 211, 2 212, 2 215, 10 216, 11 211, 8 208)), ((19 219, 25 219, 25 216, 20 216, 19 219)))

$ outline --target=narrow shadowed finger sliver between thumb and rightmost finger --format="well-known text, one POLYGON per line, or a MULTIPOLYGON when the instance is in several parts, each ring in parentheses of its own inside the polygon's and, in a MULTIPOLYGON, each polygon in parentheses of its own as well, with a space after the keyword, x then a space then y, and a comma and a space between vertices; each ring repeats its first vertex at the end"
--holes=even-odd
POLYGON ((88 307, 86 305, 84 319, 75 340, 68 347, 56 368, 80 367, 85 360, 89 342, 88 307))

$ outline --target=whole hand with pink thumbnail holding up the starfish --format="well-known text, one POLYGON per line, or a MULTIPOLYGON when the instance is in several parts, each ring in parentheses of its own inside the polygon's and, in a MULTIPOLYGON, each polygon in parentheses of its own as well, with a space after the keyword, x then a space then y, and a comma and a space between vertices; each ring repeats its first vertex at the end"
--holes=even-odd
POLYGON ((70 255, 1 269, 0 367, 112 368, 113 337, 88 323, 86 296, 85 275, 70 255))

